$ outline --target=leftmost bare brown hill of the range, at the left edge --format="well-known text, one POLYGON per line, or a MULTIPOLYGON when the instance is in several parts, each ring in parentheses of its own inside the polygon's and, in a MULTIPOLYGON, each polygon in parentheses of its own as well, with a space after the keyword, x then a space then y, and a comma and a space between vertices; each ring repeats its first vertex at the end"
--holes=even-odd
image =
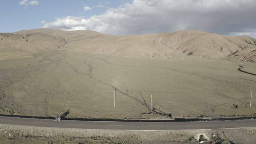
POLYGON ((32 57, 65 45, 63 38, 46 33, 0 34, 0 60, 32 57))

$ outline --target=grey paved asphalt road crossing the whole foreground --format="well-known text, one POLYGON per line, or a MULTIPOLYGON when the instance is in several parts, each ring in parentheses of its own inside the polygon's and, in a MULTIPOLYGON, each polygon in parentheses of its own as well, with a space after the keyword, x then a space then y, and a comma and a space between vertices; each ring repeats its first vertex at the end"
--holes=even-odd
POLYGON ((198 122, 112 122, 72 120, 63 120, 61 122, 55 122, 54 120, 50 119, 0 117, 0 124, 83 129, 182 130, 256 127, 256 119, 198 122))

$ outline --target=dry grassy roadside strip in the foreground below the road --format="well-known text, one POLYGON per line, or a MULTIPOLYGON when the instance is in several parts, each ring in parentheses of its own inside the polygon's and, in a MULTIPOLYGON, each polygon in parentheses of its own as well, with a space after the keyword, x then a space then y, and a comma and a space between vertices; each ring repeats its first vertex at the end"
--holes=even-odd
POLYGON ((91 130, 0 124, 0 144, 254 144, 256 128, 218 130, 91 130), (205 139, 205 138, 209 139, 205 139), (201 139, 200 139, 201 138, 201 139), (206 143, 205 143, 206 144, 206 143))

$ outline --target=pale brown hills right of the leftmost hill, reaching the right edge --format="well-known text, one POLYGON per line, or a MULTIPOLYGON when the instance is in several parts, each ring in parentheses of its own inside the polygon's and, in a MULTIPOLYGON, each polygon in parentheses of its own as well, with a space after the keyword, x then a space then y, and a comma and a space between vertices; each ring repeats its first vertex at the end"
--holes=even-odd
POLYGON ((221 36, 201 31, 99 36, 90 39, 81 37, 75 41, 71 39, 69 44, 71 51, 121 57, 169 57, 183 54, 214 59, 256 61, 256 39, 248 36, 221 36))

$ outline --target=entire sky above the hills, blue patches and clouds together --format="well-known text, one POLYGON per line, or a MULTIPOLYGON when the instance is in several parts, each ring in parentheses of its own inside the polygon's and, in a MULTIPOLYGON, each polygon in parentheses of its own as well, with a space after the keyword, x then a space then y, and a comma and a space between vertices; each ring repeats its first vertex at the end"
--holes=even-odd
POLYGON ((33 28, 137 35, 200 30, 256 37, 256 0, 1 0, 0 32, 33 28))

